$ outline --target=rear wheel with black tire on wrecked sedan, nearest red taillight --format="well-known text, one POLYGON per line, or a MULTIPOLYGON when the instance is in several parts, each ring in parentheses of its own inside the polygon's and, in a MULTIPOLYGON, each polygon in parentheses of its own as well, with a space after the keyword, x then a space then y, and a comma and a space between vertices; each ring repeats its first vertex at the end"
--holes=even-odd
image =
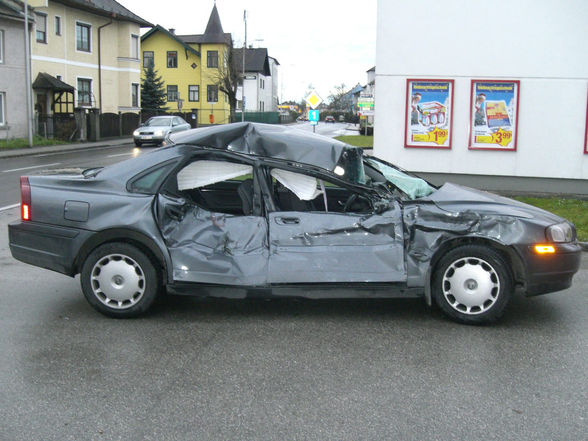
POLYGON ((160 291, 160 274, 133 245, 112 242, 92 251, 82 266, 82 291, 94 309, 115 318, 145 313, 160 291))

